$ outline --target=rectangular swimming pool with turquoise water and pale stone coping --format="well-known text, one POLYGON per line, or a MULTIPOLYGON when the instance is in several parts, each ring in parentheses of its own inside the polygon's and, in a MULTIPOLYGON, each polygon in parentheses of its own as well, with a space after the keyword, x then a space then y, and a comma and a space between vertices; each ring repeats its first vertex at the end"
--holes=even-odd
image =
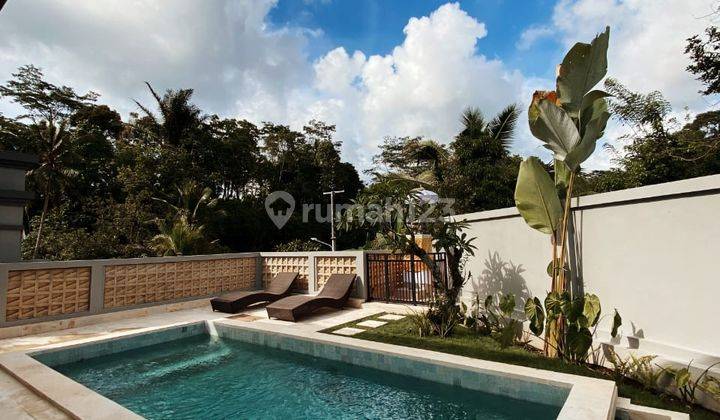
POLYGON ((9 365, 65 378, 65 395, 43 388, 41 376, 27 380, 59 405, 82 410, 105 401, 147 418, 542 419, 578 418, 578 410, 607 418, 614 407, 614 386, 597 380, 245 324, 194 323, 58 346, 31 353, 37 366, 21 358, 9 365), (81 391, 78 383, 87 387, 82 405, 68 395, 72 386, 81 391))

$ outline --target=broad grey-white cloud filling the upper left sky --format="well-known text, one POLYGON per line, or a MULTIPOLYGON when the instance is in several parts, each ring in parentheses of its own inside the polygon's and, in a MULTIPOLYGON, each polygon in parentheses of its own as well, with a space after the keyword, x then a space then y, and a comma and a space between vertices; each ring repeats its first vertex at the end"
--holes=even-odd
POLYGON ((303 48, 317 33, 270 28, 274 4, 9 2, 0 13, 0 80, 33 63, 56 83, 98 91, 124 114, 136 109, 132 99, 150 101, 149 81, 159 90, 194 88, 208 112, 282 121, 288 96, 312 77, 303 48))

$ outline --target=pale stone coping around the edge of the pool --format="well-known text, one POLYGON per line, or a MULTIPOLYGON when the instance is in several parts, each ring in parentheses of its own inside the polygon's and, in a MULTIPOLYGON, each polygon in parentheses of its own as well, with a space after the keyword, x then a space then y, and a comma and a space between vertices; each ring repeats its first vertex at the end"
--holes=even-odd
POLYGON ((185 321, 131 332, 119 332, 111 336, 89 337, 72 343, 54 343, 32 350, 5 353, 0 355, 0 368, 73 418, 139 419, 142 417, 138 414, 60 374, 31 356, 60 348, 72 348, 119 338, 131 338, 200 323, 207 326, 210 334, 213 334, 214 331, 213 324, 218 323, 228 328, 276 334, 321 344, 399 356, 451 368, 469 369, 506 378, 569 388, 568 397, 560 410, 558 419, 611 420, 615 417, 617 387, 612 381, 308 331, 298 329, 295 325, 241 322, 233 319, 185 321))

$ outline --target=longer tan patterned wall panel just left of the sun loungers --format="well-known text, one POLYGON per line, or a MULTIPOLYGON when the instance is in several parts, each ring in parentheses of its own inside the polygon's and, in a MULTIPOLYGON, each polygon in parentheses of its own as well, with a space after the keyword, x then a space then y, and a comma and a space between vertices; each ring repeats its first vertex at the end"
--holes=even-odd
POLYGON ((105 267, 104 307, 208 296, 255 286, 256 259, 229 258, 105 267))

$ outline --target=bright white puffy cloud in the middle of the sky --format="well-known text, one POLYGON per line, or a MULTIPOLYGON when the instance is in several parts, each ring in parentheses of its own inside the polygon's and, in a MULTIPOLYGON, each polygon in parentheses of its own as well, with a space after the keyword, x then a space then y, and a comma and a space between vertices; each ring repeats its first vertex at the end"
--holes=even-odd
POLYGON ((522 76, 476 53, 487 30, 457 3, 410 19, 404 33, 391 54, 351 56, 339 47, 315 63, 322 98, 314 105, 346 138, 357 136, 349 151, 364 167, 386 135, 446 142, 465 107, 494 113, 520 98, 522 76))

